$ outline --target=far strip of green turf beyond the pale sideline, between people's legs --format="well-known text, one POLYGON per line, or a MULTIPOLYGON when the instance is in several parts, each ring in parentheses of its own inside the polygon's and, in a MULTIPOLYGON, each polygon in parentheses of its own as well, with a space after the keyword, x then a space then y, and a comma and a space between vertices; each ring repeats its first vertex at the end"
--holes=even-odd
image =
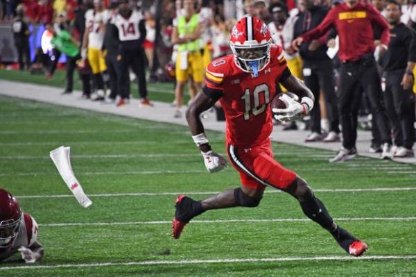
MULTIPOLYGON (((78 73, 75 72, 73 75, 73 88, 74 90, 82 90, 81 81, 78 80, 78 73)), ((21 72, 18 70, 6 70, 0 69, 0 79, 9 81, 19 81, 27 83, 35 83, 37 85, 50 85, 52 87, 59 87, 59 90, 64 91, 65 88, 65 71, 57 70, 53 75, 51 81, 46 81, 45 76, 41 74, 30 74, 27 71, 21 72)), ((137 92, 137 82, 132 82, 131 92, 134 98, 139 98, 137 92)), ((175 99, 174 85, 171 83, 148 83, 148 96, 153 101, 172 102, 175 99)), ((184 103, 189 101, 189 94, 187 87, 184 92, 184 103)))

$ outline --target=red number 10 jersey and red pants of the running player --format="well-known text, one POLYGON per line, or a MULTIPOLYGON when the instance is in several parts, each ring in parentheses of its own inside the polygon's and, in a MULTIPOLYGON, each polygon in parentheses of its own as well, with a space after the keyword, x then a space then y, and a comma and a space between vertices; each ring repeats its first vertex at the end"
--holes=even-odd
POLYGON ((270 62, 257 77, 243 72, 229 55, 211 62, 205 74, 203 91, 220 99, 227 131, 227 153, 245 187, 265 185, 284 189, 296 174, 273 158, 270 144, 272 113, 270 101, 277 85, 291 76, 280 46, 270 49, 270 62))

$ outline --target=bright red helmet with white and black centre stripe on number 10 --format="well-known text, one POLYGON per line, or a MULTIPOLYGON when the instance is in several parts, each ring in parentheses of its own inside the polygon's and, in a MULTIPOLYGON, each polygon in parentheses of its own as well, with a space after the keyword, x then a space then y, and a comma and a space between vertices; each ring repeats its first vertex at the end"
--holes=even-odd
POLYGON ((257 77, 270 62, 272 36, 257 17, 243 17, 232 28, 229 47, 236 66, 257 77))

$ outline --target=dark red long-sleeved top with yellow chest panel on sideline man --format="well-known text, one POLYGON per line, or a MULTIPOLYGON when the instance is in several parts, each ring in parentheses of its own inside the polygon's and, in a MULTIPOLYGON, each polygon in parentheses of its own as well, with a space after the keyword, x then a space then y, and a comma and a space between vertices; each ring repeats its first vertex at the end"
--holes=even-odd
POLYGON ((388 23, 374 6, 366 3, 357 3, 352 8, 345 3, 334 6, 321 24, 301 37, 310 42, 322 37, 334 26, 340 37, 340 60, 354 61, 374 52, 373 24, 380 28, 381 43, 388 46, 388 23))

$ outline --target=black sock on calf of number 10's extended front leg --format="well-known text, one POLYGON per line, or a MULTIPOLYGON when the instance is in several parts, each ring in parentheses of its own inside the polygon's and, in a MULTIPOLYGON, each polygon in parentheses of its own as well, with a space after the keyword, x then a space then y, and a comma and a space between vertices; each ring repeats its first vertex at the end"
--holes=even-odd
POLYGON ((300 207, 302 208, 306 217, 309 217, 312 221, 318 223, 322 228, 330 230, 333 226, 332 217, 329 215, 327 208, 325 208, 324 203, 318 198, 313 196, 312 199, 304 202, 300 202, 300 207))

